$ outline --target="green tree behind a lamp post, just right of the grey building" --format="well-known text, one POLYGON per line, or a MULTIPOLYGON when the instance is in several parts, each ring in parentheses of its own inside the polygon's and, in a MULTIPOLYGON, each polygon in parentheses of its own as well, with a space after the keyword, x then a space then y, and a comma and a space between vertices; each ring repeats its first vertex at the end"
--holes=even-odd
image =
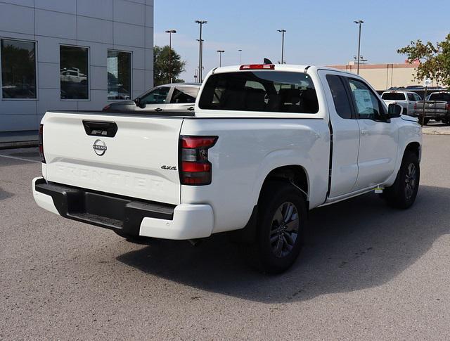
MULTIPOLYGON (((171 50, 172 59, 172 79, 174 83, 184 82, 179 79, 179 75, 184 71, 186 61, 181 60, 181 56, 174 49, 171 50)), ((170 83, 169 77, 169 46, 155 46, 153 49, 154 58, 154 82, 155 86, 170 83)))

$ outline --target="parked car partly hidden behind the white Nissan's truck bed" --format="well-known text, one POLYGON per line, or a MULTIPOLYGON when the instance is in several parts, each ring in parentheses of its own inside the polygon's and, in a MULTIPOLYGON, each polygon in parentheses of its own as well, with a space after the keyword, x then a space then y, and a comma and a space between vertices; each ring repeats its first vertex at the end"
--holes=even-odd
POLYGON ((103 111, 193 112, 200 85, 200 83, 175 83, 156 86, 134 101, 109 103, 103 111))

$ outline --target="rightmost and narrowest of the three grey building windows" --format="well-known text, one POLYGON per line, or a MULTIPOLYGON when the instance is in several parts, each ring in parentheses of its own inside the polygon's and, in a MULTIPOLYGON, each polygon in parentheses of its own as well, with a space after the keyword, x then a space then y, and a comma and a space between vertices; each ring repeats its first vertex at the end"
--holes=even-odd
POLYGON ((131 99, 131 53, 108 51, 108 100, 131 99))

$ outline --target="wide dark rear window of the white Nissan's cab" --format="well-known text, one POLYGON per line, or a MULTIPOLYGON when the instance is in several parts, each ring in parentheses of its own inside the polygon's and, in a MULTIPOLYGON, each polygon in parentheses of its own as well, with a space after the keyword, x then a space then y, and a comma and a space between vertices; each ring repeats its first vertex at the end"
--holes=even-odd
POLYGON ((245 71, 207 79, 198 103, 202 109, 298 112, 319 111, 316 89, 300 72, 245 71))

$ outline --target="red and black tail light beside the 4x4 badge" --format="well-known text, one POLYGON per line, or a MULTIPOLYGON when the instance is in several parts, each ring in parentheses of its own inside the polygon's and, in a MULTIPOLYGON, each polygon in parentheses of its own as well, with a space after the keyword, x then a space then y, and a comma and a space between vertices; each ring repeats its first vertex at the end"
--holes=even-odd
POLYGON ((208 160, 208 149, 216 142, 217 136, 181 136, 179 172, 182 185, 211 184, 212 165, 208 160))

